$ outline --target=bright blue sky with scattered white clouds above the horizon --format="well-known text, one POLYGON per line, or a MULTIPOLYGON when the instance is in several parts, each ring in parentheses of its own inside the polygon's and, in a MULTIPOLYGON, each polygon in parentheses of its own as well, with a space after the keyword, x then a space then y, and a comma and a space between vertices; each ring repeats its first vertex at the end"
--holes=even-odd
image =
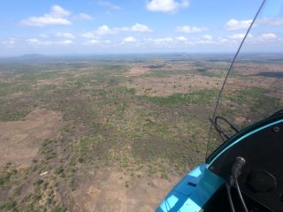
MULTIPOLYGON (((235 52, 261 0, 2 0, 0 57, 235 52)), ((267 0, 244 49, 282 52, 283 0, 267 0)))

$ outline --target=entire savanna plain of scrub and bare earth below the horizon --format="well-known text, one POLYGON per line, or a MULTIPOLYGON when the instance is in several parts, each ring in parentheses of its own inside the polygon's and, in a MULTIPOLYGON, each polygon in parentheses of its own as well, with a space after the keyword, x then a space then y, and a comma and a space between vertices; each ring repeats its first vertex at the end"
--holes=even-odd
MULTIPOLYGON (((154 211, 204 161, 232 57, 1 58, 0 211, 154 211)), ((282 58, 239 57, 218 114, 241 128, 282 109, 282 58)))

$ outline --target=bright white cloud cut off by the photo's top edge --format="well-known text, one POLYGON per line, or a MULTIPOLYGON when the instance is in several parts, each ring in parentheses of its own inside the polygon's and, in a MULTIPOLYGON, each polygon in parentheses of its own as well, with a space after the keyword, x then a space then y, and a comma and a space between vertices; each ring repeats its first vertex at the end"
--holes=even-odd
POLYGON ((177 2, 175 0, 150 0, 147 4, 149 11, 176 11, 189 5, 188 0, 177 2))

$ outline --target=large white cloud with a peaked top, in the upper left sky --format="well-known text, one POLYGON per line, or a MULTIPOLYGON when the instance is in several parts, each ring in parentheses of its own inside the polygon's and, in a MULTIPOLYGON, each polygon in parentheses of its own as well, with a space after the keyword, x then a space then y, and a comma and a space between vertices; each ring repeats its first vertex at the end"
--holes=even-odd
POLYGON ((65 19, 71 14, 70 11, 65 11, 59 5, 53 5, 51 11, 40 17, 29 17, 20 21, 21 25, 33 27, 45 27, 48 25, 71 25, 71 21, 65 19))

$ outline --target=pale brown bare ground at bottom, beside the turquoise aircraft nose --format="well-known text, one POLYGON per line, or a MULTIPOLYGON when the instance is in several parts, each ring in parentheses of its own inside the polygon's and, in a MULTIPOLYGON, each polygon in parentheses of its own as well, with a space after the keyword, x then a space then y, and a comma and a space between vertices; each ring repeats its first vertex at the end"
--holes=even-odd
POLYGON ((74 211, 127 212, 154 211, 180 177, 170 180, 142 176, 130 177, 122 170, 99 170, 73 193, 74 211), (128 187, 126 187, 128 182, 128 187))

